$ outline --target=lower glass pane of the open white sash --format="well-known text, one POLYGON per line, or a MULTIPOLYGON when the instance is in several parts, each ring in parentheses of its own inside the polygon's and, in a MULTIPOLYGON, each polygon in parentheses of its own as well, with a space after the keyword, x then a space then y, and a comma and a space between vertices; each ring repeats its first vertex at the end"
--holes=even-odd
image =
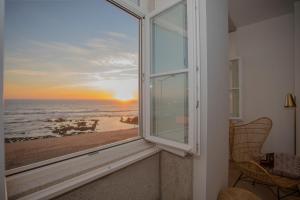
POLYGON ((188 143, 187 74, 168 75, 151 81, 151 134, 188 143))

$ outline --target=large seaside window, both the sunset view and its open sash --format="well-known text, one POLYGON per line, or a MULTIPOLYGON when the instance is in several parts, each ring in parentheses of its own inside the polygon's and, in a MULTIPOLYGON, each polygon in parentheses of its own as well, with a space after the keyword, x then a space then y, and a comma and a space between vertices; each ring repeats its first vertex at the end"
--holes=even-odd
POLYGON ((194 4, 175 0, 144 17, 139 1, 9 0, 6 168, 139 136, 195 153, 194 4))

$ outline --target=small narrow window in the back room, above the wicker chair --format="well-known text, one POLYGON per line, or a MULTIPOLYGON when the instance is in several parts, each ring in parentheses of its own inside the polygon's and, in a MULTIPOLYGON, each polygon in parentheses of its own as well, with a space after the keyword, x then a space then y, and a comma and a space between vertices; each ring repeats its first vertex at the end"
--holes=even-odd
POLYGON ((230 118, 241 118, 241 69, 240 59, 229 61, 229 111, 230 118))

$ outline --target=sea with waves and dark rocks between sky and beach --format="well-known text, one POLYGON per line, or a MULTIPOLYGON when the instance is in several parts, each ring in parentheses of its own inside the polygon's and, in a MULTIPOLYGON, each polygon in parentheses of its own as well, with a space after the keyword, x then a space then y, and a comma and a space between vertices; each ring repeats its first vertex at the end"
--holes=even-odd
POLYGON ((5 100, 7 143, 136 128, 138 104, 103 100, 5 100))

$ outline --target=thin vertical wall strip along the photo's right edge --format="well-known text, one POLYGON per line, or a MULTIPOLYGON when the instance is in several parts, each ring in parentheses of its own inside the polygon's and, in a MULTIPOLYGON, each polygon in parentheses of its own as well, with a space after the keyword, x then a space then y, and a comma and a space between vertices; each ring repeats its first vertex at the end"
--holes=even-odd
POLYGON ((295 94, 297 101, 297 154, 300 155, 300 1, 295 2, 295 94))

